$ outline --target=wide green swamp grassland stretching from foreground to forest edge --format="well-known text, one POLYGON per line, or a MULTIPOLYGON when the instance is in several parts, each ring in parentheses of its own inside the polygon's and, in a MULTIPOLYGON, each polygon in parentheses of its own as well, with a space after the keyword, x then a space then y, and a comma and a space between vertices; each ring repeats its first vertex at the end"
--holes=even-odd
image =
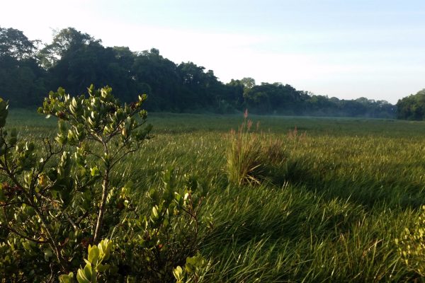
MULTIPOLYGON (((200 253, 205 282, 412 282, 395 238, 425 204, 425 123, 318 117, 249 117, 281 139, 287 161, 273 182, 231 185, 226 151, 242 115, 149 113, 154 138, 120 163, 113 185, 132 180, 135 199, 162 187, 162 172, 210 184, 203 205, 214 226, 200 253), (295 131, 296 127, 296 131, 295 131)), ((56 121, 11 110, 8 127, 33 139, 56 121)))

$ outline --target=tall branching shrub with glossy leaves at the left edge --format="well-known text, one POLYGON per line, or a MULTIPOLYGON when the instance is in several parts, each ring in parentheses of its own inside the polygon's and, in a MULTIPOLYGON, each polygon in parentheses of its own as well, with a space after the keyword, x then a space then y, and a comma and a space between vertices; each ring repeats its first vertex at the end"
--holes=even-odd
POLYGON ((150 130, 142 129, 146 96, 121 106, 111 91, 91 86, 88 97, 77 98, 62 88, 50 92, 39 112, 59 119, 59 133, 55 141, 43 139, 42 148, 4 129, 8 110, 1 101, 0 171, 6 180, 0 189, 0 240, 2 271, 9 278, 43 278, 47 271, 53 278, 72 270, 83 248, 106 235, 111 171, 150 130), (141 120, 133 117, 137 113, 141 120))

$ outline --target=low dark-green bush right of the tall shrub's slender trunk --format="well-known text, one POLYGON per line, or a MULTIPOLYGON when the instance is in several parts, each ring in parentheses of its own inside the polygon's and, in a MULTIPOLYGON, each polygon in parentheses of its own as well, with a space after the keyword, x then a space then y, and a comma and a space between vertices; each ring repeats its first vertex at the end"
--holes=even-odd
MULTIPOLYGON (((192 262, 198 270, 187 270, 187 278, 200 280, 208 262, 195 256, 201 241, 200 230, 212 226, 210 217, 201 217, 200 208, 207 187, 197 178, 188 177, 183 188, 176 186, 174 171, 164 173, 162 193, 151 190, 152 211, 149 216, 126 218, 117 233, 113 259, 118 279, 134 282, 174 282, 174 269, 192 262)), ((205 234, 203 231, 202 234, 205 234)), ((176 279, 182 279, 179 277, 176 279)), ((191 281, 193 282, 193 281, 191 281)))

